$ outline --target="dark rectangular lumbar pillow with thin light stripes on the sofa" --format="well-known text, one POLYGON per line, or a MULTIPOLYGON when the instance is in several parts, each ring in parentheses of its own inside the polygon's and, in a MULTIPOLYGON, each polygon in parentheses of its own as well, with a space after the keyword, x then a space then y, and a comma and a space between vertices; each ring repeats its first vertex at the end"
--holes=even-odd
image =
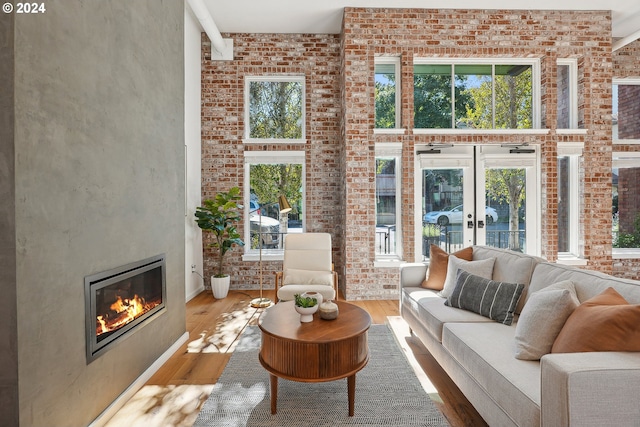
POLYGON ((511 325, 523 289, 523 283, 495 282, 461 268, 458 271, 456 287, 445 304, 473 311, 504 325, 511 325))

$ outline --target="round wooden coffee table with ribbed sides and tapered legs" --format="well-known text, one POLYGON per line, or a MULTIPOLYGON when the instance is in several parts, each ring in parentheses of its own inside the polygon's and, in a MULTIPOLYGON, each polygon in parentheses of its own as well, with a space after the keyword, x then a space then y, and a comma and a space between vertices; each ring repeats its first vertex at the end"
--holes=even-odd
POLYGON ((369 313, 358 306, 336 301, 338 318, 300 323, 294 302, 280 302, 258 319, 262 331, 260 363, 269 372, 271 413, 278 403, 278 378, 323 382, 347 378, 349 416, 353 416, 356 372, 369 361, 367 331, 369 313))

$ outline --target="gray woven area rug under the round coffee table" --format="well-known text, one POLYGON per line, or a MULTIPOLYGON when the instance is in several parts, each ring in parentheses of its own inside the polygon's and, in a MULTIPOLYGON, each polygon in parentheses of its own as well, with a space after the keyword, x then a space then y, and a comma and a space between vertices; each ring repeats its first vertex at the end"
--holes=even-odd
POLYGON ((449 426, 386 325, 369 329, 369 363, 356 374, 355 414, 348 415, 347 380, 278 381, 271 415, 269 374, 258 361, 260 331, 248 327, 194 427, 449 426))

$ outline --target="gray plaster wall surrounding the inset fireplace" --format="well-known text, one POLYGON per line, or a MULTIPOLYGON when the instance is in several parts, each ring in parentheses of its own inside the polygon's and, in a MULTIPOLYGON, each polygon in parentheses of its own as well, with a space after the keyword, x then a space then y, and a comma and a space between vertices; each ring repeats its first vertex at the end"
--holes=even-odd
POLYGON ((15 17, 20 426, 83 426, 185 327, 184 5, 51 0, 15 17), (91 364, 84 277, 159 253, 167 306, 91 364))

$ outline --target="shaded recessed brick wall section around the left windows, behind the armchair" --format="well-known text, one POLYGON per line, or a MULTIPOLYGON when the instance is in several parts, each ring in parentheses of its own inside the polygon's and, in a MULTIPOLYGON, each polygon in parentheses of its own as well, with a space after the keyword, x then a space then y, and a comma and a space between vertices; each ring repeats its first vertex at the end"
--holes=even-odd
MULTIPOLYGON (((340 265, 343 210, 340 208, 342 156, 340 138, 340 39, 337 35, 225 34, 234 41, 233 61, 211 61, 209 39, 202 43, 202 198, 244 186, 244 152, 304 150, 306 153, 307 231, 329 232, 340 265), (244 78, 304 75, 305 144, 243 144, 244 78)), ((244 191, 244 189, 243 189, 244 191)), ((244 235, 244 225, 240 224, 244 235)), ((205 242, 206 243, 206 242, 205 242)), ((232 289, 256 289, 258 262, 242 261, 242 248, 227 254, 232 289)), ((205 248, 205 277, 215 259, 205 248)), ((264 287, 273 288, 273 272, 282 262, 263 262, 264 287)), ((208 280, 206 281, 208 284, 208 280)))

